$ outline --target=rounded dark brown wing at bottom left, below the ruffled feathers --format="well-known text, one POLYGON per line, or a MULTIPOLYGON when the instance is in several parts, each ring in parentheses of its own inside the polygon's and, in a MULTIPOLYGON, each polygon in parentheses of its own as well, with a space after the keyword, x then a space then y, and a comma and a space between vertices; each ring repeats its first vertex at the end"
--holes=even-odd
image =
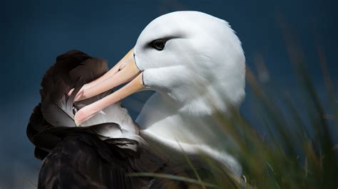
POLYGON ((149 178, 127 177, 133 156, 91 134, 74 134, 44 159, 39 188, 148 188, 149 178))

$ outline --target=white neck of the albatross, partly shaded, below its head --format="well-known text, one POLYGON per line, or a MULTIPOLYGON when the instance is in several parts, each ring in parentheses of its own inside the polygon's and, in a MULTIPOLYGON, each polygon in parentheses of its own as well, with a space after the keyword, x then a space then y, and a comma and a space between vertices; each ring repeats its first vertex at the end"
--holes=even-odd
POLYGON ((178 111, 180 107, 170 98, 156 92, 145 103, 136 119, 141 135, 147 141, 160 143, 174 151, 206 153, 236 175, 240 175, 241 166, 235 158, 225 151, 216 150, 220 138, 215 133, 220 132, 217 132, 219 128, 215 120, 212 121, 208 115, 184 114, 178 111))

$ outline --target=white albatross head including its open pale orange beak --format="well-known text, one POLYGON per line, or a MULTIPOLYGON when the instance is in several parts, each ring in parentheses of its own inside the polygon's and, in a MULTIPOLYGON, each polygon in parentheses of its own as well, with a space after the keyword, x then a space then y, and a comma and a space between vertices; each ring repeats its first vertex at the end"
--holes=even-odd
POLYGON ((128 82, 76 113, 81 124, 139 90, 154 90, 194 115, 225 112, 245 96, 245 56, 229 24, 198 11, 168 13, 145 27, 135 47, 114 68, 86 84, 76 100, 128 82))

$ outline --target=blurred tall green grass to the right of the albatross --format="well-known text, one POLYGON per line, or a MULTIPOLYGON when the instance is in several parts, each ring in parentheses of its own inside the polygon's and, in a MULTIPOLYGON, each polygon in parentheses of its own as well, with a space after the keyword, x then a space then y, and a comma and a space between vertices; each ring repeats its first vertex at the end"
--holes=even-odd
MULTIPOLYGON (((249 84, 258 102, 257 115, 265 125, 269 137, 260 136, 240 113, 232 111, 232 117, 219 114, 222 128, 237 144, 232 151, 243 166, 243 175, 252 188, 337 188, 338 103, 327 70, 322 48, 318 49, 322 65, 327 98, 331 107, 324 107, 307 69, 296 38, 282 23, 287 51, 295 70, 301 100, 292 100, 282 92, 267 92, 257 82, 251 70, 247 70, 249 84), (280 95, 277 95, 279 93, 280 95), (283 105, 281 105, 283 104, 283 105), (299 110, 297 106, 304 109, 299 110)), ((224 175, 219 175, 222 178, 224 175)), ((220 188, 225 185, 218 183, 220 188)), ((234 188, 238 188, 235 185, 234 188)))

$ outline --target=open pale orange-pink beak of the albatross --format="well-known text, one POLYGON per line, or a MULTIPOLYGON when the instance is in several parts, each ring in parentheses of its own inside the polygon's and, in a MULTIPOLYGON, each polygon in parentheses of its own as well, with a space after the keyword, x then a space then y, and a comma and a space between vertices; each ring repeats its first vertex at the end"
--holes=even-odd
POLYGON ((142 77, 142 72, 136 67, 133 49, 131 49, 126 56, 111 68, 111 70, 106 72, 105 75, 84 85, 76 95, 75 100, 87 99, 102 92, 106 92, 107 90, 111 90, 113 87, 122 85, 123 83, 128 82, 128 84, 123 86, 120 90, 113 92, 111 95, 108 95, 93 104, 88 104, 88 106, 83 107, 76 112, 74 117, 76 125, 80 125, 109 105, 143 89, 145 86, 143 85, 142 77))

